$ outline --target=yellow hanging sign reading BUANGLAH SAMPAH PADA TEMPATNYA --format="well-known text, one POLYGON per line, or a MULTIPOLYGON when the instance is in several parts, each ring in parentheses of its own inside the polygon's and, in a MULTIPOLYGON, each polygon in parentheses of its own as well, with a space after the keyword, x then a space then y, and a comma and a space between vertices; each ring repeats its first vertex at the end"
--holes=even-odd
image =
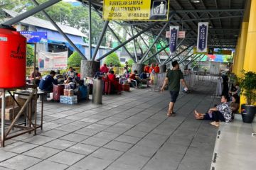
POLYGON ((170 0, 104 0, 103 20, 168 21, 170 0))

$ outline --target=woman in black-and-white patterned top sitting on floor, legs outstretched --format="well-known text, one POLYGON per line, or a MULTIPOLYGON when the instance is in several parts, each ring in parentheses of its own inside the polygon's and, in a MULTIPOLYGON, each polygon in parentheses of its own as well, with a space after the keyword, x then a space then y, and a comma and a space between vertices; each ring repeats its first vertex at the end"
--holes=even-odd
POLYGON ((210 124, 216 127, 219 127, 220 121, 230 122, 232 120, 232 110, 230 103, 228 103, 228 96, 221 96, 220 105, 210 108, 206 114, 195 111, 195 118, 201 120, 214 120, 210 124))

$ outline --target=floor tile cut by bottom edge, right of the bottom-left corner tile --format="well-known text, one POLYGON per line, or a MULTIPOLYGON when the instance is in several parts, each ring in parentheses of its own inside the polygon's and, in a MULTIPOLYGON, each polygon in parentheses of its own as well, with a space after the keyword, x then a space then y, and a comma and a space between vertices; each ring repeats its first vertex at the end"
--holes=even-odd
POLYGON ((44 160, 43 162, 40 162, 40 163, 32 166, 28 170, 50 170, 50 169, 64 170, 64 169, 67 169, 67 168, 68 168, 68 165, 59 164, 59 163, 56 163, 56 162, 50 162, 48 160, 44 160))

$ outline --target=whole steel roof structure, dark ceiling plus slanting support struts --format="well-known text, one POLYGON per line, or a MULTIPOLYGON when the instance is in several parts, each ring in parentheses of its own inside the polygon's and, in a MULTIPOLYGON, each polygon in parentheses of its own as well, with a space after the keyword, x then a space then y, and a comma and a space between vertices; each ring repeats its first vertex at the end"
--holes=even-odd
MULTIPOLYGON (((44 11, 45 8, 53 6, 54 4, 60 2, 61 0, 49 0, 43 4, 38 4, 36 0, 33 1, 35 7, 30 11, 21 13, 20 15, 11 18, 9 21, 5 21, 4 25, 11 26, 14 23, 23 21, 24 19, 32 16, 33 14, 43 11, 44 15, 48 18, 50 23, 54 26, 60 34, 62 34, 68 42, 79 52, 79 54, 85 60, 95 60, 97 51, 102 42, 102 38, 105 36, 106 30, 110 30, 114 38, 117 39, 119 45, 114 47, 112 50, 107 52, 105 55, 102 55, 97 60, 102 60, 103 58, 110 55, 112 52, 118 50, 120 47, 123 47, 126 50, 127 54, 134 60, 135 63, 142 64, 149 60, 152 57, 156 58, 156 61, 159 64, 167 64, 172 60, 176 60, 176 57, 182 63, 184 60, 187 60, 188 57, 191 57, 191 47, 196 46, 197 42, 197 32, 198 32, 198 22, 208 22, 208 47, 219 47, 219 48, 234 48, 238 35, 240 33, 240 26, 242 19, 247 13, 245 13, 245 4, 247 0, 170 0, 169 6, 169 21, 105 21, 102 28, 102 33, 99 35, 97 45, 95 47, 95 52, 87 58, 78 50, 78 48, 73 44, 73 42, 65 35, 63 29, 60 28, 53 20, 48 16, 48 13, 44 11), (127 38, 124 42, 119 39, 114 30, 111 28, 111 22, 118 23, 120 26, 127 27, 129 26, 132 30, 132 37, 127 38), (166 39, 166 31, 169 31, 169 26, 180 26, 180 30, 186 30, 186 38, 180 39, 178 45, 176 46, 177 50, 174 55, 169 55, 168 59, 164 62, 161 62, 159 58, 159 53, 164 51, 169 47, 169 40, 166 39), (135 31, 136 30, 136 31, 135 31), (149 35, 154 38, 152 45, 147 45, 142 35, 149 35), (137 45, 136 39, 141 38, 144 41, 144 44, 148 47, 142 58, 137 57, 137 45), (163 45, 161 50, 156 50, 154 54, 152 49, 156 47, 156 44, 159 43, 159 40, 166 42, 166 45, 163 45), (134 54, 127 50, 125 45, 127 43, 134 43, 134 54), (186 55, 183 55, 183 54, 186 55)), ((92 51, 92 38, 91 38, 91 16, 92 10, 97 11, 97 13, 102 16, 103 11, 103 1, 102 0, 78 0, 82 2, 84 6, 89 7, 89 51, 92 51)), ((192 52, 193 53, 193 52, 192 52)), ((166 55, 167 52, 166 52, 166 55)), ((196 60, 201 55, 195 54, 192 60, 196 60)))

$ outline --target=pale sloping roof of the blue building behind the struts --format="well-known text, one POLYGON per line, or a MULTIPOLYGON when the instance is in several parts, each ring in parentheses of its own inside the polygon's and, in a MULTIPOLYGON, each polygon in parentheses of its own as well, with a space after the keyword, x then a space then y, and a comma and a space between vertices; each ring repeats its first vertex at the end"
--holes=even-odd
MULTIPOLYGON (((21 15, 21 13, 17 13, 15 11, 10 11, 7 9, 2 8, 1 10, 5 11, 6 13, 8 13, 12 18, 21 15)), ((55 30, 58 31, 53 24, 50 23, 50 21, 46 21, 43 20, 41 18, 36 18, 33 16, 30 16, 22 21, 20 21, 20 23, 23 23, 24 25, 31 25, 31 26, 37 26, 37 27, 41 27, 41 28, 47 28, 49 30, 55 30)), ((80 37, 86 37, 86 35, 84 33, 82 33, 80 30, 78 30, 77 28, 73 28, 70 26, 64 26, 58 23, 58 26, 63 30, 64 33, 70 34, 70 35, 77 35, 80 37)))

